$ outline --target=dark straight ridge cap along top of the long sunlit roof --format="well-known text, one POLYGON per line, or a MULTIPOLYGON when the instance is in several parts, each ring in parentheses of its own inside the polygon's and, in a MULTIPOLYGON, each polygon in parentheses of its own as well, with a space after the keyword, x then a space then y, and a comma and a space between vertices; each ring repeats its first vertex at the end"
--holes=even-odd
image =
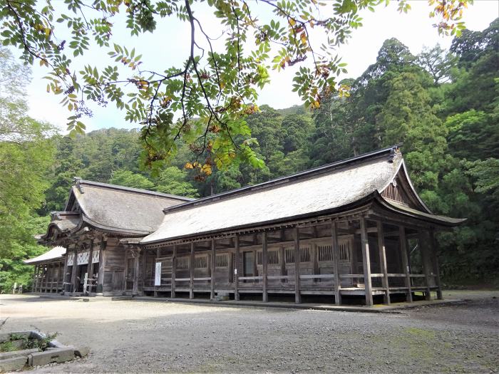
POLYGON ((397 150, 398 147, 400 147, 400 146, 401 146, 401 144, 392 145, 391 147, 386 147, 386 148, 383 148, 381 150, 367 152, 367 153, 364 153, 362 155, 347 158, 345 160, 332 162, 331 164, 322 165, 319 167, 314 167, 312 169, 304 170, 302 172, 297 172, 295 174, 287 175, 285 177, 279 177, 279 178, 276 178, 274 180, 269 180, 267 182, 259 183, 258 185, 252 185, 252 186, 246 186, 246 187, 241 187, 241 188, 237 188, 237 189, 232 189, 231 191, 221 192, 220 194, 214 194, 214 195, 211 195, 208 197, 202 197, 201 199, 195 199, 191 202, 185 202, 184 204, 174 205, 173 207, 166 207, 165 209, 163 209, 163 212, 164 213, 174 212, 177 210, 185 209, 187 207, 195 207, 195 206, 200 205, 200 204, 206 204, 208 202, 214 202, 214 201, 217 201, 219 199, 225 199, 226 197, 232 197, 232 196, 235 196, 237 194, 242 194, 245 192, 253 192, 253 191, 257 191, 258 189, 264 189, 264 188, 272 187, 275 185, 281 185, 281 184, 284 184, 287 182, 292 182, 295 180, 302 179, 304 177, 309 177, 311 175, 320 175, 320 174, 327 172, 329 170, 334 170, 337 168, 346 167, 348 165, 354 164, 355 162, 359 162, 359 161, 366 160, 369 158, 381 157, 381 155, 384 155, 385 153, 391 154, 393 150, 397 150))

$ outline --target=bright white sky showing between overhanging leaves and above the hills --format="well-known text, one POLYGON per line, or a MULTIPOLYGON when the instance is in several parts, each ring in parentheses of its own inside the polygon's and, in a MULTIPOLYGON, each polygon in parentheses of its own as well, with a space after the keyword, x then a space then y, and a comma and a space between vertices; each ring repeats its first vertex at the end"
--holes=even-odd
MULTIPOLYGON (((254 1, 254 0, 252 0, 254 1)), ((53 3, 61 3, 62 0, 55 0, 53 3)), ((410 1, 411 11, 408 14, 399 14, 396 10, 396 1, 392 1, 387 7, 379 6, 374 13, 365 11, 361 13, 363 17, 363 26, 352 33, 349 42, 339 47, 338 53, 342 61, 347 63, 348 74, 340 78, 356 78, 363 73, 366 68, 376 62, 376 56, 379 48, 387 38, 398 38, 411 50, 411 53, 417 54, 424 46, 435 46, 439 43, 443 48, 451 46, 452 38, 450 36, 438 36, 438 31, 432 25, 434 19, 428 17, 431 10, 426 0, 410 1)), ((267 8, 265 8, 267 9, 267 8)), ((205 31, 210 36, 220 35, 220 24, 214 21, 215 18, 210 14, 205 4, 194 4, 192 10, 200 19, 205 31)), ((265 10, 257 8, 262 12, 260 18, 269 16, 265 10)), ((473 31, 483 30, 488 27, 490 22, 499 16, 498 0, 475 0, 473 6, 470 6, 463 16, 465 25, 473 31)), ((120 24, 123 19, 115 20, 115 26, 120 24)), ((181 61, 187 57, 189 48, 190 29, 187 23, 168 22, 158 24, 154 33, 148 33, 138 37, 130 37, 129 31, 118 27, 113 31, 116 43, 125 46, 133 46, 138 53, 143 54, 143 61, 147 63, 150 70, 165 70, 170 66, 178 66, 181 61)), ((63 30, 56 29, 59 33, 63 30)), ((61 38, 61 36, 59 36, 61 38)), ((220 43, 222 43, 222 39, 220 43)), ((312 36, 312 42, 319 43, 320 36, 312 36), (315 40, 314 40, 315 39, 315 40)), ((107 56, 108 50, 103 48, 93 48, 86 53, 83 58, 75 58, 74 62, 78 70, 85 64, 96 66, 107 66, 112 63, 107 56)), ((295 66, 294 68, 298 68, 295 66)), ((46 93, 46 80, 43 76, 46 70, 38 66, 33 67, 32 80, 28 87, 29 95, 29 115, 37 120, 43 120, 52 123, 61 129, 64 133, 66 129, 66 118, 69 112, 59 104, 60 96, 46 93)), ((260 93, 258 105, 267 104, 273 108, 289 108, 292 105, 301 104, 297 93, 292 92, 292 78, 294 69, 287 68, 284 71, 272 72, 271 83, 267 85, 260 93)), ((108 107, 101 108, 92 105, 93 116, 85 118, 84 123, 87 130, 96 130, 100 128, 138 128, 137 124, 128 123, 124 120, 125 112, 117 110, 110 103, 108 107)))

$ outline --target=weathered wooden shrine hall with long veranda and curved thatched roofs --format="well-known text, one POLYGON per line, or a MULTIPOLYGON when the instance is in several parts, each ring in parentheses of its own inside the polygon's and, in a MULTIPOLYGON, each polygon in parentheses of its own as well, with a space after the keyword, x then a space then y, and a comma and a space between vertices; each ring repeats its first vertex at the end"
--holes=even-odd
POLYGON ((398 147, 202 199, 166 195, 133 204, 150 194, 157 193, 76 182, 66 212, 53 214, 41 239, 68 248, 64 291, 86 291, 79 286, 86 272, 96 273, 90 292, 104 295, 366 305, 441 298, 435 232, 463 222, 430 212, 398 147), (93 203, 92 189, 120 197, 93 203), (146 225, 161 204, 163 217, 146 225), (114 210, 129 218, 110 230, 104 222, 114 210), (74 214, 76 226, 58 226, 65 214, 74 214), (140 233, 139 224, 148 227, 140 233), (73 270, 69 254, 85 251, 98 251, 97 265, 88 255, 87 267, 73 270))

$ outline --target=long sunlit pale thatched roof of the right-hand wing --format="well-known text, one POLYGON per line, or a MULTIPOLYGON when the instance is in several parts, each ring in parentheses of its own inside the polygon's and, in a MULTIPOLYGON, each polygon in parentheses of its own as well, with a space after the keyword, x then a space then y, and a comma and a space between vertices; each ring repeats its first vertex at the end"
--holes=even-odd
MULTIPOLYGON (((383 199, 380 193, 402 168, 405 167, 398 148, 389 147, 260 185, 197 199, 165 209, 163 224, 141 243, 152 244, 311 217, 375 195, 383 199)), ((417 197, 415 191, 413 194, 417 197)), ((424 211, 422 214, 438 219, 423 202, 419 205, 424 211)), ((445 223, 457 222, 446 220, 445 223)))

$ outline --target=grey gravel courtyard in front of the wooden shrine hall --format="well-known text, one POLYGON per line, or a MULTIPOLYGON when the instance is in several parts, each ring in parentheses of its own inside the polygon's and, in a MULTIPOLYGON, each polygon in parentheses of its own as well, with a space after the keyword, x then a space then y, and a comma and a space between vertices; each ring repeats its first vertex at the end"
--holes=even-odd
POLYGON ((91 348, 38 373, 497 373, 499 292, 444 296, 468 300, 388 314, 1 295, 0 320, 91 348))

